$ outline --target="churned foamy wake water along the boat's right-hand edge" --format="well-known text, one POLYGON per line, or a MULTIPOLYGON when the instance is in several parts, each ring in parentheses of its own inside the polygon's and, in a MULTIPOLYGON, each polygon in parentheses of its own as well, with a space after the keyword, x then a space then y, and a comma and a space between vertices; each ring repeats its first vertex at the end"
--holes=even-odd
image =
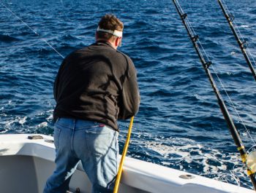
POLYGON ((238 186, 244 183, 246 170, 239 162, 238 154, 227 154, 219 149, 211 149, 191 139, 172 138, 170 140, 173 140, 173 144, 162 143, 162 141, 143 142, 144 148, 150 154, 154 151, 154 154, 158 154, 163 160, 157 162, 157 156, 151 160, 152 162, 238 186))

